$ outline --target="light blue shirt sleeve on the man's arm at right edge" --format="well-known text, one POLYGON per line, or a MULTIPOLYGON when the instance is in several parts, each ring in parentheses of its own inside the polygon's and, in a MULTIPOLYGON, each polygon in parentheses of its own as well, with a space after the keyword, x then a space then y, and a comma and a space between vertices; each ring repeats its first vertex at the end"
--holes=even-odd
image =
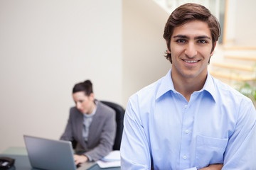
POLYGON ((255 169, 256 111, 251 102, 242 101, 233 135, 224 154, 223 170, 255 169))

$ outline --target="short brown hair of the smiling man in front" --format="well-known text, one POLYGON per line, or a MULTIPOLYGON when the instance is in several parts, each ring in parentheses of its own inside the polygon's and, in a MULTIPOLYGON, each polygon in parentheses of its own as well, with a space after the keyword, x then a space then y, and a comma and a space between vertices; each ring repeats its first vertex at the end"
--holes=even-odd
MULTIPOLYGON (((210 29, 210 35, 213 42, 213 52, 214 44, 218 41, 218 38, 220 37, 220 23, 218 22, 217 18, 215 18, 215 16, 213 16, 213 14, 210 13, 208 8, 193 3, 183 4, 179 6, 171 13, 171 16, 169 16, 169 19, 164 28, 163 35, 164 39, 167 42, 167 47, 169 51, 171 51, 171 35, 174 33, 174 28, 182 26, 183 24, 188 23, 189 21, 195 20, 203 21, 208 24, 208 27, 210 29)), ((171 54, 166 53, 165 57, 167 60, 172 62, 171 54)))

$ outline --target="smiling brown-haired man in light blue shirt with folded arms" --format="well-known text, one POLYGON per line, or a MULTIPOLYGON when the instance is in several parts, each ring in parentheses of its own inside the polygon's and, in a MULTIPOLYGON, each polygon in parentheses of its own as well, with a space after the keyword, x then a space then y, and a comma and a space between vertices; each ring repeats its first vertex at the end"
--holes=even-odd
POLYGON ((122 169, 255 169, 256 112, 249 98, 208 73, 220 25, 184 4, 165 29, 165 77, 129 98, 122 169))

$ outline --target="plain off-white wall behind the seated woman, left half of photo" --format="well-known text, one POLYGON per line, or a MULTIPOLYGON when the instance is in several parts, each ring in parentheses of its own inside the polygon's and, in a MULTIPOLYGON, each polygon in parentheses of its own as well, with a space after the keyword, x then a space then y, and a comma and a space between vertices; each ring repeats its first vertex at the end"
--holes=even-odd
POLYGON ((0 1, 0 152, 58 139, 75 83, 122 103, 122 1, 0 1))

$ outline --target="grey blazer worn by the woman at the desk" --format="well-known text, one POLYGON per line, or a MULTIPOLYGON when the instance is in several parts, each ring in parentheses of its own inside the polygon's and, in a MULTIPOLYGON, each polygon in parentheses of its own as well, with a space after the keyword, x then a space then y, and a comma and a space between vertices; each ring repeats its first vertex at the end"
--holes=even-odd
POLYGON ((83 114, 75 107, 70 108, 68 124, 60 137, 60 140, 75 140, 75 152, 87 155, 92 161, 101 159, 112 151, 117 126, 114 110, 100 101, 95 102, 97 110, 92 118, 87 142, 82 137, 83 114))

